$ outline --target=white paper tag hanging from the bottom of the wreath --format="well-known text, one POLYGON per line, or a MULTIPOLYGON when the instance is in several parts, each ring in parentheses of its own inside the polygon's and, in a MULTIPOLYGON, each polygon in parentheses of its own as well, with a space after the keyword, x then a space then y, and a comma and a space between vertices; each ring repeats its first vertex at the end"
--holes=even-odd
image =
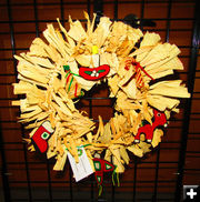
POLYGON ((93 173, 93 170, 90 165, 90 161, 86 154, 84 148, 79 148, 78 152, 79 152, 79 163, 76 163, 74 158, 71 155, 70 152, 68 152, 68 158, 74 174, 76 182, 93 173))

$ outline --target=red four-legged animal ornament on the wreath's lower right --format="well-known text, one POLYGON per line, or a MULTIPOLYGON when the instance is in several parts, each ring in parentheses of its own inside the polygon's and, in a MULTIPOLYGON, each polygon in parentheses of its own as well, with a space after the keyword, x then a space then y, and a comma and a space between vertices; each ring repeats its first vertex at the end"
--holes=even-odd
POLYGON ((140 135, 143 133, 146 135, 147 142, 151 142, 153 138, 153 132, 158 127, 167 127, 166 114, 153 110, 154 121, 151 124, 146 124, 138 129, 138 133, 134 137, 134 142, 140 142, 140 135))

